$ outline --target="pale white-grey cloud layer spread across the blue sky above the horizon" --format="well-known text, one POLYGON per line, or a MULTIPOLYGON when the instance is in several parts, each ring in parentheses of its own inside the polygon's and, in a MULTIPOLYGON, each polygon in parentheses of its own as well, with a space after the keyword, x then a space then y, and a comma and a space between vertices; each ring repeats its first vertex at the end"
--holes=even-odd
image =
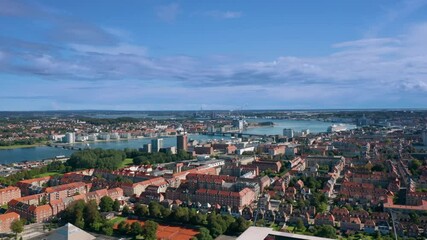
MULTIPOLYGON (((16 85, 25 96, 0 90, 2 99, 46 100, 55 108, 79 108, 83 95, 91 96, 91 108, 144 109, 153 107, 150 101, 160 103, 158 108, 178 104, 181 109, 198 109, 202 104, 211 108, 345 108, 371 103, 426 107, 422 102, 412 104, 417 97, 427 100, 427 23, 414 24, 398 37, 337 42, 323 56, 278 53, 275 59, 253 62, 232 56, 152 56, 150 46, 132 42, 121 29, 30 9, 15 1, 2 1, 0 9, 0 15, 31 16, 50 26, 45 33, 49 41, 0 35, 0 74, 40 86, 31 93, 28 87, 16 85), (313 102, 318 100, 322 106, 316 107, 313 102)), ((174 21, 179 12, 177 4, 156 9, 157 17, 166 22, 174 21)), ((242 13, 207 15, 231 19, 242 13)))

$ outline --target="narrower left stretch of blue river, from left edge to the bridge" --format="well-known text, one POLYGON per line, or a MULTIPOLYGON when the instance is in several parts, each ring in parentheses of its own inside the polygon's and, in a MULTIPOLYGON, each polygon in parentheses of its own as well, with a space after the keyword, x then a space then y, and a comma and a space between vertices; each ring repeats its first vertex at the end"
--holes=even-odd
MULTIPOLYGON (((205 135, 193 135, 189 134, 188 139, 194 139, 198 141, 207 141, 210 139, 220 139, 220 137, 212 137, 205 135)), ((229 139, 227 137, 221 137, 221 139, 229 139)), ((125 149, 125 148, 142 148, 142 145, 150 143, 151 138, 132 139, 123 141, 110 141, 110 142, 95 142, 89 143, 91 148, 103 148, 103 149, 125 149)), ((76 147, 84 148, 86 144, 77 143, 74 144, 76 147)), ((164 137, 163 146, 171 147, 176 146, 176 137, 164 137)), ((33 148, 17 148, 10 150, 0 150, 0 164, 8 164, 14 162, 23 161, 35 161, 43 160, 48 158, 54 158, 55 156, 71 156, 75 150, 55 148, 55 147, 33 147, 33 148)))

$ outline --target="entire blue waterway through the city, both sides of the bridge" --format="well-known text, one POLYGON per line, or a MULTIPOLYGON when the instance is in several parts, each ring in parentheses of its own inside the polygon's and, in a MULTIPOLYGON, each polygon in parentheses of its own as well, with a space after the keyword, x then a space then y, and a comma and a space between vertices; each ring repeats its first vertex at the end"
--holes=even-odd
MULTIPOLYGON (((301 131, 302 129, 310 129, 312 133, 326 132, 327 128, 332 124, 330 122, 314 121, 314 120, 276 120, 276 119, 247 119, 248 122, 274 122, 273 127, 257 127, 250 128, 244 131, 244 133, 252 134, 267 134, 275 135, 282 134, 283 128, 292 128, 295 131, 301 131)), ((354 125, 346 125, 349 129, 355 128, 354 125)), ((189 135, 189 139, 195 139, 198 141, 205 141, 215 137, 205 135, 189 135)), ((219 139, 219 137, 216 137, 219 139)), ((227 139, 227 137, 223 137, 227 139)), ((103 149, 124 149, 124 148, 141 148, 142 145, 150 143, 150 138, 134 139, 128 141, 111 141, 111 142, 95 142, 90 143, 91 148, 103 148, 103 149)), ((164 147, 176 146, 176 137, 165 137, 163 138, 164 147)), ((85 144, 75 144, 76 147, 84 147, 85 144)), ((22 161, 34 161, 48 158, 54 158, 55 156, 65 155, 70 156, 74 150, 68 150, 63 148, 54 147, 34 147, 34 148, 20 148, 12 150, 0 150, 0 164, 7 164, 13 162, 22 161)))

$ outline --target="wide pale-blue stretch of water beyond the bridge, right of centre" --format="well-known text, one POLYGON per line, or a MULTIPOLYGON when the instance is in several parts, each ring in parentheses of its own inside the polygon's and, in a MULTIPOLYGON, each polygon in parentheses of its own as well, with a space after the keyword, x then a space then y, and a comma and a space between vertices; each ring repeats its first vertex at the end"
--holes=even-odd
MULTIPOLYGON (((309 129, 311 133, 320 133, 326 132, 328 127, 333 123, 331 122, 322 122, 316 120, 287 120, 287 119, 246 119, 247 122, 274 122, 272 127, 256 127, 249 128, 244 133, 251 134, 266 134, 266 135, 276 135, 283 134, 284 128, 291 128, 294 131, 301 131, 303 129, 309 129)), ((356 128, 355 125, 345 124, 347 129, 356 128)))

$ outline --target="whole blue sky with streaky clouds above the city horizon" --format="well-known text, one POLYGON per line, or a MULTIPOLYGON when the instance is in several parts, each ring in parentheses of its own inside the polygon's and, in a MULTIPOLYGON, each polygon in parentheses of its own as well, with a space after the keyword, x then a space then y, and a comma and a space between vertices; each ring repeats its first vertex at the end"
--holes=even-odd
POLYGON ((427 108, 427 0, 0 0, 0 111, 427 108))

